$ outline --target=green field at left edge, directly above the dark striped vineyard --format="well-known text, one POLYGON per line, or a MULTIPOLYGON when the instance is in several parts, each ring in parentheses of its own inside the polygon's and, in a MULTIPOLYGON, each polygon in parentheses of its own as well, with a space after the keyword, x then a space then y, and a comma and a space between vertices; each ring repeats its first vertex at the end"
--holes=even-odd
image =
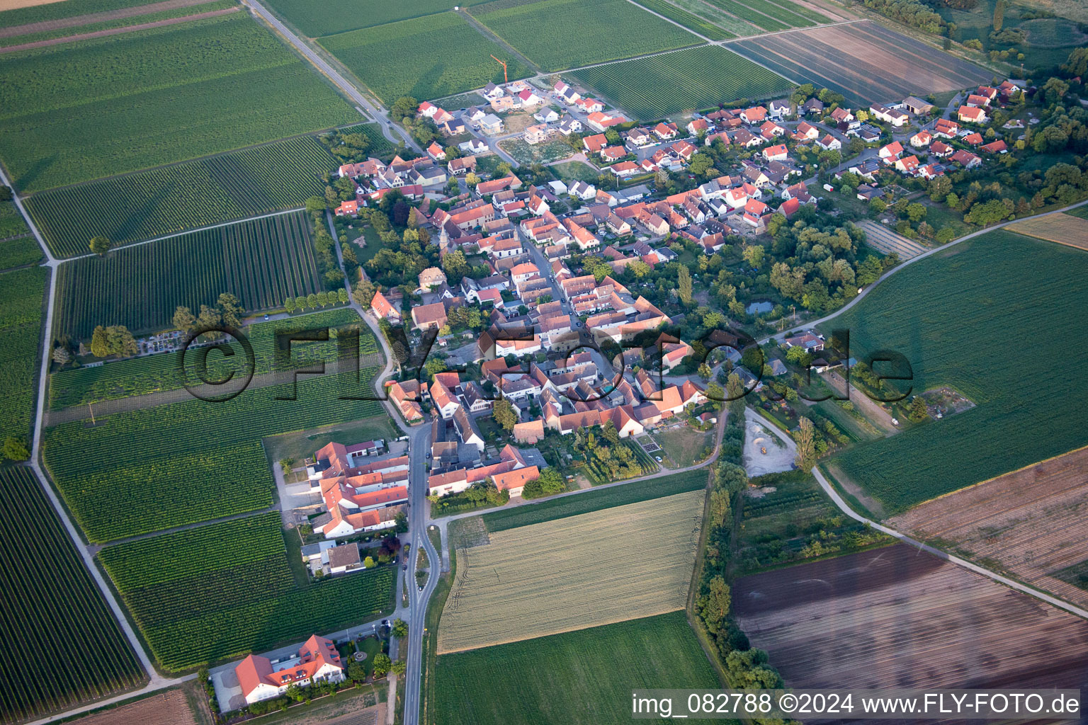
POLYGON ((48 279, 46 267, 0 274, 0 441, 15 436, 27 448, 48 279))

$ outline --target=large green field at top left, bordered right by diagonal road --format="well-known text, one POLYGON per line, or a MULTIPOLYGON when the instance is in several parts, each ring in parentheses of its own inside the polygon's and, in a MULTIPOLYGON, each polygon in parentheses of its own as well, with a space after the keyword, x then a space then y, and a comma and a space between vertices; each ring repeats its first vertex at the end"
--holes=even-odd
POLYGON ((0 85, 0 158, 23 191, 359 117, 244 13, 11 53, 0 85))

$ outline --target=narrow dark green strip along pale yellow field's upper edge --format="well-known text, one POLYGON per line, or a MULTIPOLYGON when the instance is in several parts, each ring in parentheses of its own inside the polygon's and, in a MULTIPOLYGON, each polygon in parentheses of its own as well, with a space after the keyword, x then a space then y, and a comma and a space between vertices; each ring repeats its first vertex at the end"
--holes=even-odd
POLYGON ((665 496, 694 491, 706 487, 707 468, 677 473, 670 476, 658 476, 646 480, 639 480, 633 484, 622 486, 610 486, 608 488, 597 488, 564 496, 560 498, 547 499, 540 503, 504 509, 492 513, 485 513, 482 518, 489 532, 502 532, 507 528, 540 524, 545 521, 577 516, 591 511, 601 511, 613 507, 659 499, 665 496))

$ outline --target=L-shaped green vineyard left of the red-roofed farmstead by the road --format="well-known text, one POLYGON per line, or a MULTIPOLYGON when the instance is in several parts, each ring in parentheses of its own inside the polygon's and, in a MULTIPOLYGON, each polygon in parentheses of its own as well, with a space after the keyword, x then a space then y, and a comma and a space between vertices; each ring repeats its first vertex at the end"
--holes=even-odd
POLYGON ((226 402, 189 400, 47 428, 44 458, 91 541, 208 521, 272 504, 261 438, 385 415, 360 385, 336 375, 246 390, 226 402), (290 395, 296 400, 284 400, 290 395))

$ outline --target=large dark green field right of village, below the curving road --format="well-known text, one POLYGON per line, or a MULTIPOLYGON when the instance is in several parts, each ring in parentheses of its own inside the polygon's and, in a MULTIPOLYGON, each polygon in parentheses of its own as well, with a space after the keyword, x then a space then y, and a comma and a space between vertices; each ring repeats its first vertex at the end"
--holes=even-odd
POLYGON ((914 391, 976 407, 861 443, 831 462, 888 514, 1088 443, 1088 255, 997 230, 890 277, 823 329, 851 353, 895 350, 914 391))

